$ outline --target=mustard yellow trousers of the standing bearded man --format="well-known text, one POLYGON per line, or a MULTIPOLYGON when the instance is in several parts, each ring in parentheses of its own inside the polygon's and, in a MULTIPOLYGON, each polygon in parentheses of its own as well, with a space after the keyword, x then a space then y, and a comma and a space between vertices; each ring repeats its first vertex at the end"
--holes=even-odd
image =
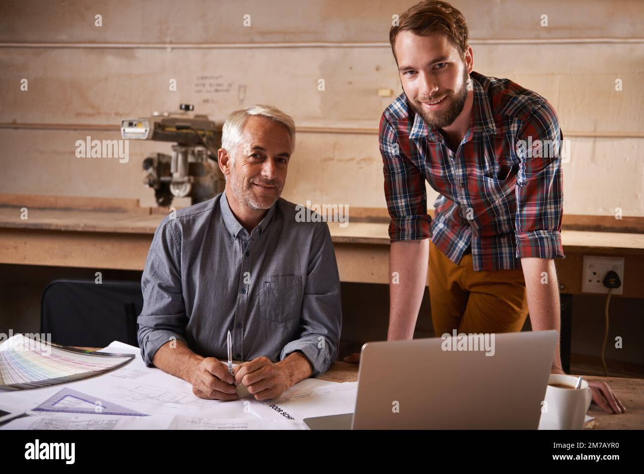
POLYGON ((434 336, 518 332, 527 316, 523 270, 475 272, 472 255, 456 265, 430 242, 429 289, 434 336))

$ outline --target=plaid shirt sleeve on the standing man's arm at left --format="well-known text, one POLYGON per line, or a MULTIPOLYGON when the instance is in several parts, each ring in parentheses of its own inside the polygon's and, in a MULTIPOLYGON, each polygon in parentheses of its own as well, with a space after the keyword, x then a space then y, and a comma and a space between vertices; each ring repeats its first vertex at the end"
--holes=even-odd
POLYGON ((380 120, 379 142, 383 156, 384 197, 392 218, 390 242, 430 238, 431 217, 427 213, 425 178, 405 154, 411 152, 410 142, 398 139, 395 128, 384 114, 380 120))

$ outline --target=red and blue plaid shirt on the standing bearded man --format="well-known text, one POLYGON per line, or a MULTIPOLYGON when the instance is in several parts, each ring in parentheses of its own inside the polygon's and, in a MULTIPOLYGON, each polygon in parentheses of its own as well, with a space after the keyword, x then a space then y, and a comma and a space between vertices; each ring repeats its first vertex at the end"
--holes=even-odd
POLYGON ((471 243, 477 271, 520 268, 522 257, 564 256, 563 135, 553 107, 507 79, 470 77, 472 119, 457 153, 413 112, 404 93, 383 112, 391 242, 431 238, 455 263, 471 243), (433 220, 425 180, 440 194, 433 220))

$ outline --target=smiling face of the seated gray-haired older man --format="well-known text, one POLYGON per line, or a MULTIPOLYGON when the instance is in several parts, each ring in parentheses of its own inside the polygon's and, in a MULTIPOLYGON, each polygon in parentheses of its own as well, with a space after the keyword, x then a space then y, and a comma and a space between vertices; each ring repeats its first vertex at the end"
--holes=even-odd
POLYGON ((269 209, 278 200, 286 182, 293 143, 289 130, 261 116, 249 117, 242 140, 234 149, 234 163, 222 167, 226 189, 247 209, 269 209))

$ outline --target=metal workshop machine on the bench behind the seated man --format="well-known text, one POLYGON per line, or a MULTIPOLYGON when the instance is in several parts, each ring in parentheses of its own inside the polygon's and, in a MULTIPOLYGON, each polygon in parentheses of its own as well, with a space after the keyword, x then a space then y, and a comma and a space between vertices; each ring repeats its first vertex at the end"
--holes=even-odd
POLYGON ((162 206, 175 197, 189 197, 196 204, 221 193, 225 185, 216 152, 221 132, 207 115, 190 117, 191 104, 181 104, 180 109, 180 113, 154 112, 146 119, 121 121, 124 140, 175 142, 171 156, 156 153, 143 161, 143 182, 154 188, 156 203, 162 206))

